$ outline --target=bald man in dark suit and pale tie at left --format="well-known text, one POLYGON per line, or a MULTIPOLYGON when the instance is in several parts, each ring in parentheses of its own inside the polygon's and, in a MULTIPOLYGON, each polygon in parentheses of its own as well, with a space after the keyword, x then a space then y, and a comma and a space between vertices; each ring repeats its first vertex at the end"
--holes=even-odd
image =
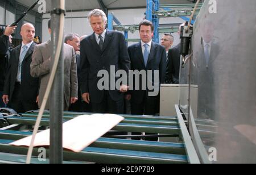
POLYGON ((39 80, 30 75, 31 56, 34 51, 35 28, 24 24, 21 28, 22 45, 14 48, 10 56, 9 70, 3 91, 3 102, 17 113, 38 109, 39 80), (9 101, 10 100, 10 101, 9 101))

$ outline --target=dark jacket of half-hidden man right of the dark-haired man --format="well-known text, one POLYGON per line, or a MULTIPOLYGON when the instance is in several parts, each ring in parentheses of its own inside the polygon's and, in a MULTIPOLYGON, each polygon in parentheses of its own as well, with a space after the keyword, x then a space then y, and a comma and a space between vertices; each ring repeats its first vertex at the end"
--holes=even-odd
POLYGON ((167 70, 166 70, 166 83, 179 84, 180 77, 180 44, 174 48, 169 49, 167 70))

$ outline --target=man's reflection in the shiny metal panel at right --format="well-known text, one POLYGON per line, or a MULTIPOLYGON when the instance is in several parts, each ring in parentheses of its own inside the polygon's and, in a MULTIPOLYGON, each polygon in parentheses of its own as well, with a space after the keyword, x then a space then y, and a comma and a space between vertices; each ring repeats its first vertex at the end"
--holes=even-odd
POLYGON ((196 52, 196 70, 198 84, 198 117, 203 119, 215 119, 216 107, 213 70, 220 48, 214 40, 214 24, 205 22, 201 47, 196 52), (211 103, 210 103, 211 102, 211 103))

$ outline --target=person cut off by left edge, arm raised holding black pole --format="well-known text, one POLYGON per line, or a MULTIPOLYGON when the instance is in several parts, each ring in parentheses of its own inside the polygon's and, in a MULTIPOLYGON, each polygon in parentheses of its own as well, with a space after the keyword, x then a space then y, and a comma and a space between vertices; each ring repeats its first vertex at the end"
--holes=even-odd
MULTIPOLYGON (((5 86, 5 77, 7 66, 9 64, 12 36, 16 26, 0 27, 0 97, 3 96, 3 86, 5 86)), ((0 107, 6 107, 2 98, 0 99, 0 107)))

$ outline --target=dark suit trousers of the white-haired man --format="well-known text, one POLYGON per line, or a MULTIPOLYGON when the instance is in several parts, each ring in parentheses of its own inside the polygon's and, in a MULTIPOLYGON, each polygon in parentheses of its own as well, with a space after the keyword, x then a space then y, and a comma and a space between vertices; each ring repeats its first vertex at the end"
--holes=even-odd
POLYGON ((93 113, 123 114, 123 100, 113 101, 108 90, 104 90, 104 98, 100 103, 92 103, 93 113))

